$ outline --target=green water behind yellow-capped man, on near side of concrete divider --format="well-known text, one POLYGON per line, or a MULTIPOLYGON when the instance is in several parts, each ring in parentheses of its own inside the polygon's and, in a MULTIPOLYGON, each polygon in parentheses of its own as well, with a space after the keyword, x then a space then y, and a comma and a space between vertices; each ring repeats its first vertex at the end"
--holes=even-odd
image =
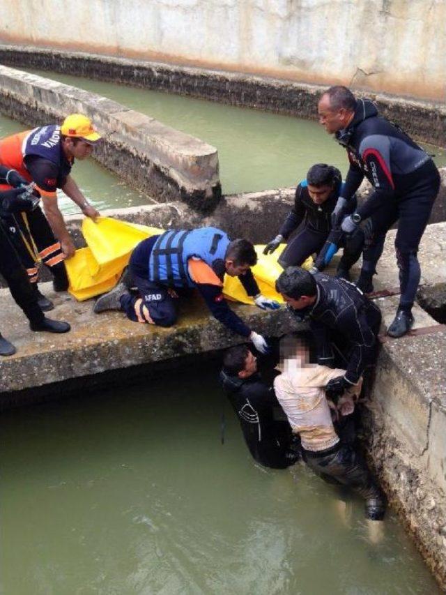
MULTIPOLYGON (((0 114, 0 137, 5 137, 26 130, 29 126, 0 114)), ((74 179, 84 195, 94 206, 101 209, 122 209, 125 206, 151 204, 151 199, 137 190, 132 190, 94 159, 79 161, 72 170, 74 179)), ((57 191, 59 208, 66 215, 80 213, 79 207, 61 190, 57 191)))

